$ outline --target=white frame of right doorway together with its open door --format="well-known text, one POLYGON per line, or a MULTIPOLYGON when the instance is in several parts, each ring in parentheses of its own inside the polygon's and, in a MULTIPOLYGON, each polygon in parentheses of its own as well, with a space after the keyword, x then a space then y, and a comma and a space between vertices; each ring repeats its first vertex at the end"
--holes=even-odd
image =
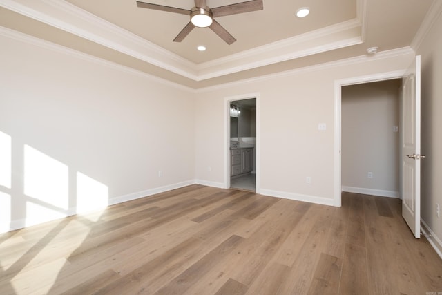
POLYGON ((402 79, 399 91, 399 198, 402 199, 402 216, 415 238, 421 236, 421 56, 417 55, 405 70, 378 73, 363 77, 336 80, 334 82, 335 141, 334 141, 334 205, 342 205, 342 88, 343 86, 378 82, 389 79, 402 79))

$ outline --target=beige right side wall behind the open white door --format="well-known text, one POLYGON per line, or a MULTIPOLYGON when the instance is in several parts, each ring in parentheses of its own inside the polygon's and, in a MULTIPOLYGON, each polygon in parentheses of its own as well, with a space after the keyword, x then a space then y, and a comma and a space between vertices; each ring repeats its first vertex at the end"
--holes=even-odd
POLYGON ((436 217, 436 204, 442 206, 442 15, 416 50, 422 61, 421 217, 432 230, 432 238, 442 250, 442 216, 436 217))

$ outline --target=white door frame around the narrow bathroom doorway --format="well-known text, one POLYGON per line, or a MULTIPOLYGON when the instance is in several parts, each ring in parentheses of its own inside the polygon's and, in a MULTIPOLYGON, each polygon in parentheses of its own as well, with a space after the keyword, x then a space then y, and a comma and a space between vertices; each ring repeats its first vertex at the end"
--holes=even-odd
POLYGON ((230 188, 230 103, 236 100, 256 98, 256 193, 260 193, 260 93, 247 93, 224 97, 224 189, 230 188))

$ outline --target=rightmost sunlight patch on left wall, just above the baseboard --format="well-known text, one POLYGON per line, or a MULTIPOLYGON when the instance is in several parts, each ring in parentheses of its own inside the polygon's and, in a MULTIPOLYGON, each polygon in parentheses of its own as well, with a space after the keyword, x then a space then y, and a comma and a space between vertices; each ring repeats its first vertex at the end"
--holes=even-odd
MULTIPOLYGON (((108 206, 108 198, 109 189, 106 185, 88 175, 77 172, 77 213, 105 209, 108 206)), ((97 218, 99 216, 94 217, 94 219, 97 218)))

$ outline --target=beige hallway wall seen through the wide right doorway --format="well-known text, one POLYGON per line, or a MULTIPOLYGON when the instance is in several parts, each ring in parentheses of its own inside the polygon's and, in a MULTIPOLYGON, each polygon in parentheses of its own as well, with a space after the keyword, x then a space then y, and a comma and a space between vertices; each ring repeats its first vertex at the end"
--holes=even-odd
POLYGON ((342 88, 343 191, 398 198, 400 86, 396 79, 342 88))

